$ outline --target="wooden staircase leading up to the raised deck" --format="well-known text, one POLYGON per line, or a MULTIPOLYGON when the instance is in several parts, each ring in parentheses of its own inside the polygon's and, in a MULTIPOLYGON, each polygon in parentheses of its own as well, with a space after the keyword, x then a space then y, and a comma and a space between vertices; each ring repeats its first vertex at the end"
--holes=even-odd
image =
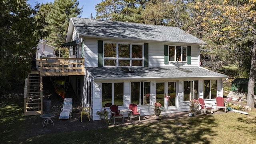
POLYGON ((42 76, 39 72, 32 72, 25 80, 24 115, 42 114, 42 76))

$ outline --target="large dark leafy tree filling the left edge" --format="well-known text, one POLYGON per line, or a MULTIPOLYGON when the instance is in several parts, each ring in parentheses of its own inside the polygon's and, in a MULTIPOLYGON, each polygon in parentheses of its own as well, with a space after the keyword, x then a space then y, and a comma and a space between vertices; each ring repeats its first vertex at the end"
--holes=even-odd
POLYGON ((28 76, 40 28, 34 19, 36 11, 26 0, 2 0, 0 7, 0 92, 4 92, 14 80, 28 76))

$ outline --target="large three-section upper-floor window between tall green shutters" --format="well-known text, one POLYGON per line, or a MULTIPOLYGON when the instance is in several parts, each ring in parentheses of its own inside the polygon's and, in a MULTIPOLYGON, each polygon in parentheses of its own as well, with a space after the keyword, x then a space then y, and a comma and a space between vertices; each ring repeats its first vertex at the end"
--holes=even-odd
POLYGON ((104 66, 143 66, 144 44, 104 43, 104 66))

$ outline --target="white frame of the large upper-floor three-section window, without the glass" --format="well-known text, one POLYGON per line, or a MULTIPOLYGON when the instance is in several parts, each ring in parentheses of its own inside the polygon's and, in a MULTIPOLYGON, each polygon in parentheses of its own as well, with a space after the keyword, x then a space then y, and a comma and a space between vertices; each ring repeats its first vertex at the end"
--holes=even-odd
POLYGON ((144 67, 144 44, 143 43, 130 43, 130 42, 103 42, 103 67, 144 67), (116 57, 105 57, 105 43, 116 44, 116 57), (119 58, 118 56, 118 44, 129 44, 130 57, 129 58, 119 58), (142 58, 132 58, 132 45, 142 45, 142 58), (105 66, 105 60, 116 60, 116 66, 105 66), (130 60, 129 66, 119 66, 118 60, 130 60), (132 60, 142 60, 142 66, 132 66, 132 60))

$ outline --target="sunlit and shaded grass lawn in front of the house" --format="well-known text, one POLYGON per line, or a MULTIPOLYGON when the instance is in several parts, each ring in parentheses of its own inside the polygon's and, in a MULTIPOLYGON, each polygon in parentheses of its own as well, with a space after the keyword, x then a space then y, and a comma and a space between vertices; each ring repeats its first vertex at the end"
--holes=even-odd
MULTIPOLYGON (((256 110, 164 119, 148 124, 111 126, 38 136, 24 135, 33 124, 23 116, 22 96, 0 101, 0 144, 251 144, 256 142, 256 110)), ((43 127, 42 127, 43 128, 43 127)))

